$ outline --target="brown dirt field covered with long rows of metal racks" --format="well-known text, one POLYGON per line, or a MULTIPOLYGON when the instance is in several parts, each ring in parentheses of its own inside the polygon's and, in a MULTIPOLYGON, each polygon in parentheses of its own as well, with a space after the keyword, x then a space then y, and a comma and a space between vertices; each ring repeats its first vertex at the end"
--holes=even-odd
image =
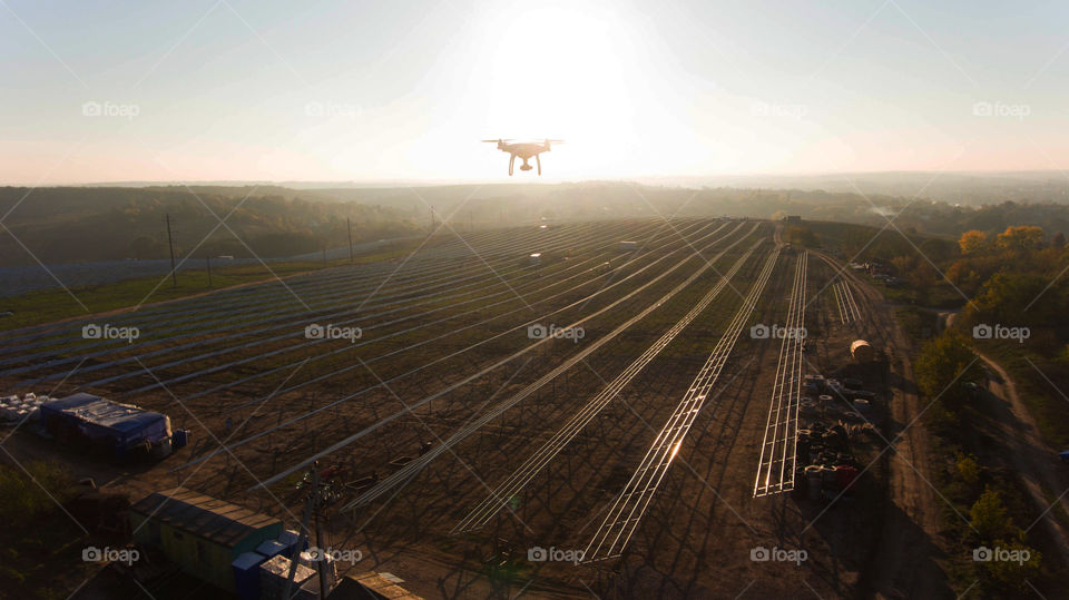
MULTIPOLYGON (((184 322, 188 337, 110 346, 80 364, 90 351, 67 347, 53 334, 55 343, 42 352, 71 362, 33 371, 35 376, 70 371, 52 395, 78 385, 106 396, 127 394, 125 401, 167 412, 176 426, 192 431, 193 443, 139 468, 73 456, 21 431, 6 447, 20 460, 61 458, 79 475, 135 500, 182 484, 275 514, 291 528, 303 509, 293 484, 306 460, 322 453, 321 468, 344 469, 337 478, 343 498, 326 515, 324 545, 361 550, 353 572, 395 573, 428 598, 944 596, 931 542, 938 499, 928 483, 926 440, 921 427, 911 426, 923 406, 913 390, 909 344, 879 292, 850 274, 844 277, 857 315, 843 323, 834 262, 817 253, 810 254, 805 273, 803 374, 862 380, 875 399, 855 424, 869 421, 874 431, 851 437, 861 472, 852 493, 834 502, 804 493, 754 498, 781 341, 754 338, 751 326, 786 322, 797 250, 776 259, 712 395, 671 452, 622 553, 597 562, 529 560, 538 558, 529 555, 536 548, 572 557, 569 552, 587 547, 744 306, 773 252, 773 234, 767 223, 713 220, 562 225, 551 233, 552 242, 539 242, 540 233, 488 233, 470 240, 475 256, 457 248, 453 258, 413 260, 388 277, 392 269, 340 272, 334 283, 298 279, 294 296, 334 298, 323 305, 308 301, 308 312, 275 289, 277 304, 249 305, 229 318, 208 311, 184 322), (614 247, 630 238, 644 249, 630 255, 614 247), (537 269, 518 262, 545 248, 558 259, 537 269), (708 307, 518 493, 502 499, 503 510, 482 529, 453 532, 736 264, 708 307), (346 294, 357 288, 363 292, 346 294), (290 337, 276 340, 267 328, 264 311, 275 306, 300 315, 300 325, 293 318, 278 322, 277 331, 290 337), (311 343, 294 334, 313 318, 349 318, 339 313, 359 316, 360 344, 311 343), (579 326, 583 335, 540 341, 527 331, 532 322, 579 326), (851 358, 850 343, 859 337, 872 344, 874 362, 851 358), (97 383, 108 378, 114 380, 97 383), (493 419, 472 424, 504 403, 507 410, 493 419), (464 434, 451 440, 458 432, 464 434), (332 450, 341 441, 347 443, 332 450), (406 473, 408 463, 420 464, 424 442, 441 453, 386 486, 392 474, 406 473), (372 473, 382 494, 342 510, 379 489, 355 484, 372 473), (275 476, 266 490, 256 486, 275 476), (354 484, 345 488, 346 482, 354 484), (762 549, 774 559, 753 560, 762 549), (803 559, 776 560, 786 555, 803 559)), ((235 298, 235 305, 245 302, 235 298)), ((161 315, 154 323, 167 323, 161 315)), ((146 324, 146 331, 157 325, 146 324)), ((6 368, 23 366, 12 362, 6 368)), ((8 372, 0 373, 0 383, 26 381, 8 372)), ((35 388, 51 392, 45 386, 56 383, 59 376, 35 388)), ((810 421, 803 417, 798 426, 810 421)))

